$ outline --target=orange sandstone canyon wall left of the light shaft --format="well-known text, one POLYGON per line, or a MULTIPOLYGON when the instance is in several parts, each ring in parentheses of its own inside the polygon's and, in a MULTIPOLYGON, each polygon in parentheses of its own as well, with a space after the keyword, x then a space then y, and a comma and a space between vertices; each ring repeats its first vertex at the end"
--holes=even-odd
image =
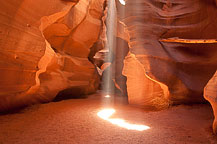
POLYGON ((99 36, 103 3, 1 1, 0 111, 51 101, 64 89, 79 94, 97 89, 88 54, 99 36))

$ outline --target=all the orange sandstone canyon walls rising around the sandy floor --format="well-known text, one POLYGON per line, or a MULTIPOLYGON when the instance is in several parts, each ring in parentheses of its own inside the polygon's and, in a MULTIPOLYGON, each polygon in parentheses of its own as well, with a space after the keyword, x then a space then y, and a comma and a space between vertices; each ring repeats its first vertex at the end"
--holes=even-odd
POLYGON ((129 104, 164 109, 205 95, 217 117, 217 0, 116 0, 112 52, 108 2, 0 2, 0 111, 94 93, 112 68, 129 104))

